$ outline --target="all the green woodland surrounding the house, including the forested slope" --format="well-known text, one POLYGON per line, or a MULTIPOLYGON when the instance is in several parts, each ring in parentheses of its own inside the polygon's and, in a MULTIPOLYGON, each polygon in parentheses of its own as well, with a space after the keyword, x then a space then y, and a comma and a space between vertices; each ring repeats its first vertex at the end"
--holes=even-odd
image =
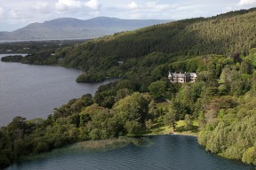
POLYGON ((255 23, 255 9, 229 12, 102 37, 42 60, 36 53, 22 58, 82 69, 82 81, 122 79, 94 97, 70 100, 47 120, 14 118, 0 131, 0 165, 70 143, 143 135, 163 122, 175 131, 178 120, 186 130, 199 122, 198 142, 206 151, 256 165, 255 23), (171 83, 169 71, 198 77, 171 83), (168 109, 157 107, 165 99, 168 109))

